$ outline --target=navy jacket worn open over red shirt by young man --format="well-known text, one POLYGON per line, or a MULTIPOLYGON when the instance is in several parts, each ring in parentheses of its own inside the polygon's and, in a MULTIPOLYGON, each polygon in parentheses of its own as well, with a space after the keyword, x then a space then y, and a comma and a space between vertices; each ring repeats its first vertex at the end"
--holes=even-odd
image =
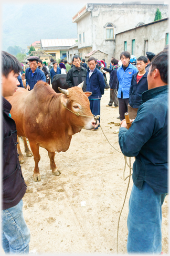
POLYGON ((138 84, 136 83, 136 76, 139 72, 132 76, 131 87, 129 90, 129 104, 134 109, 138 109, 142 104, 142 93, 148 90, 147 86, 147 74, 146 73, 141 77, 138 84))

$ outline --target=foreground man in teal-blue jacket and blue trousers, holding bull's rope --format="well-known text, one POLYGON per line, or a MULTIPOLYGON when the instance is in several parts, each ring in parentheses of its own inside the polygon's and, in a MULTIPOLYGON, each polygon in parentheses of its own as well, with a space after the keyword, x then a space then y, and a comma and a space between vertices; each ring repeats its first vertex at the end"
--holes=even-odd
POLYGON ((148 91, 127 130, 121 122, 119 144, 135 156, 127 218, 127 252, 161 254, 162 204, 168 193, 168 51, 158 53, 147 75, 148 91))

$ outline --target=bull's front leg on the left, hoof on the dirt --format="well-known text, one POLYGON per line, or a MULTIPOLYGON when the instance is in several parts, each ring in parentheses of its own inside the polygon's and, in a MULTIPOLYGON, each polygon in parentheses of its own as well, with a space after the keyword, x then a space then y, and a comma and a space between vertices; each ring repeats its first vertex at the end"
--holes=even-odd
POLYGON ((34 181, 40 181, 41 180, 41 175, 39 173, 39 167, 38 163, 40 160, 40 154, 39 154, 39 145, 35 144, 34 142, 29 141, 29 145, 31 148, 31 151, 33 152, 34 155, 34 161, 35 161, 35 168, 34 168, 34 173, 33 173, 33 180, 34 181))

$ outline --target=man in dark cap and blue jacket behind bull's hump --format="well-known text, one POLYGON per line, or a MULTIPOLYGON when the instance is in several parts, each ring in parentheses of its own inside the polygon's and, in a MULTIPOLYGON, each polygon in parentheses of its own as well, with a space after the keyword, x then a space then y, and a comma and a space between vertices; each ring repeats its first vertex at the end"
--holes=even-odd
POLYGON ((29 68, 25 71, 25 79, 27 90, 30 91, 39 80, 46 82, 46 76, 38 68, 39 58, 37 56, 30 56, 27 60, 29 61, 29 68))

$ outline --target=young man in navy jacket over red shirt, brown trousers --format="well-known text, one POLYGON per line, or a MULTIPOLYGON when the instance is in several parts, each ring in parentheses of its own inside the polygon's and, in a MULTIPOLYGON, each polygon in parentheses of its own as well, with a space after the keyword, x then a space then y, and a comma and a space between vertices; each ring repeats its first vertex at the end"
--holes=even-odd
POLYGON ((129 103, 127 105, 130 119, 135 119, 137 110, 142 104, 142 93, 148 90, 147 87, 147 74, 145 70, 147 66, 146 56, 140 56, 136 62, 137 70, 139 72, 133 74, 131 86, 129 90, 129 103))

